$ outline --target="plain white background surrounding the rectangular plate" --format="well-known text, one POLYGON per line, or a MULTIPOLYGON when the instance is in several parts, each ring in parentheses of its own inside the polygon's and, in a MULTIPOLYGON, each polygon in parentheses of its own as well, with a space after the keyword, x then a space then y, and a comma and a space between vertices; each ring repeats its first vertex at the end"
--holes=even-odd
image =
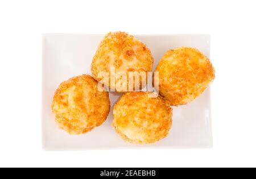
POLYGON ((255 1, 1 1, 0 166, 256 166, 255 1), (213 149, 46 152, 42 33, 210 34, 213 149))

